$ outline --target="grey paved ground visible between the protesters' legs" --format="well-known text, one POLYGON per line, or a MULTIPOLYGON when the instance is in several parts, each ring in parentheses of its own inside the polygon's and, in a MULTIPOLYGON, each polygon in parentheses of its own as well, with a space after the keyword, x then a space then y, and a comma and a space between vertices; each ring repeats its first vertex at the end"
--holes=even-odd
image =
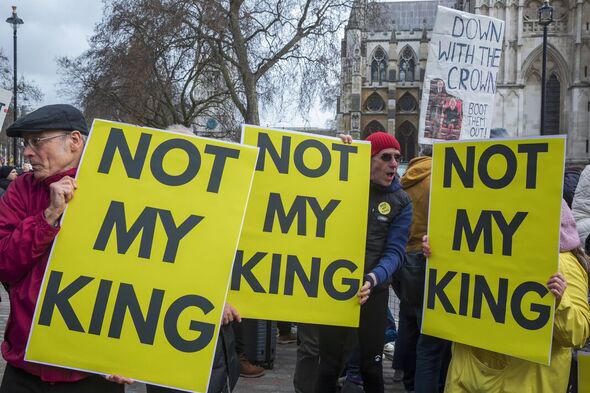
MULTIPOLYGON (((8 295, 0 286, 0 332, 4 332, 6 321, 10 312, 10 305, 8 302, 8 295)), ((397 304, 390 302, 390 307, 395 313, 397 304)), ((266 370, 264 376, 260 378, 240 378, 234 390, 234 393, 294 393, 293 389, 293 373, 295 371, 295 359, 297 356, 297 345, 293 344, 277 344, 276 359, 274 368, 266 370)), ((0 378, 4 374, 4 367, 6 363, 0 357, 0 378)), ((391 361, 385 360, 383 364, 384 378, 385 378, 385 392, 386 393, 403 393, 404 389, 400 383, 393 382, 393 370, 391 369, 391 361)), ((125 388, 126 393, 145 393, 145 385, 143 383, 134 383, 125 388)), ((363 393, 359 390, 359 393, 363 393)))

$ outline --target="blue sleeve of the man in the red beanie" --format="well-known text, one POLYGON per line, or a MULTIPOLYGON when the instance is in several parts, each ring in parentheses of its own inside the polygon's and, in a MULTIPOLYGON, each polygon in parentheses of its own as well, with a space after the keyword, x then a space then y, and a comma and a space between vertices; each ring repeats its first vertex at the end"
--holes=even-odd
POLYGON ((384 282, 400 267, 406 253, 406 243, 412 224, 412 203, 408 203, 394 218, 389 232, 383 255, 377 265, 370 271, 377 277, 377 285, 384 282))

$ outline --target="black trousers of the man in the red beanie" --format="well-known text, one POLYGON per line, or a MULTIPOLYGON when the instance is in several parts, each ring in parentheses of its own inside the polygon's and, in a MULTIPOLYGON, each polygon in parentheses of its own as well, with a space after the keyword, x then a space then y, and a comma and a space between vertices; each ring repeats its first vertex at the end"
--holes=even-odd
MULTIPOLYGON (((387 325, 387 288, 373 291, 361 307, 357 329, 361 375, 366 393, 383 393, 383 336, 387 325)), ((333 393, 347 356, 343 343, 354 328, 320 326, 320 371, 316 393, 333 393)))

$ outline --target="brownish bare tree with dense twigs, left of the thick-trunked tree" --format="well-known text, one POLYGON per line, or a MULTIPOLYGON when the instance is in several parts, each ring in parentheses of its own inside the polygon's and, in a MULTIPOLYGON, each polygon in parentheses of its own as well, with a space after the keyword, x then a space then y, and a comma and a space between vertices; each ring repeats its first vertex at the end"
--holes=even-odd
POLYGON ((89 118, 165 128, 213 117, 235 129, 235 109, 216 88, 208 42, 191 34, 182 4, 105 1, 104 17, 81 56, 58 60, 62 93, 89 118))

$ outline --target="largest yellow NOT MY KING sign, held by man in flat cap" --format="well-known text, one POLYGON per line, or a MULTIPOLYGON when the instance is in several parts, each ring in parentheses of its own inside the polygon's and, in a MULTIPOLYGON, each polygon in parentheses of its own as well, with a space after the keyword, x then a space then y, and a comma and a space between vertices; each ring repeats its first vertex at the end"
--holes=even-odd
POLYGON ((25 359, 205 392, 257 153, 95 120, 25 359))

